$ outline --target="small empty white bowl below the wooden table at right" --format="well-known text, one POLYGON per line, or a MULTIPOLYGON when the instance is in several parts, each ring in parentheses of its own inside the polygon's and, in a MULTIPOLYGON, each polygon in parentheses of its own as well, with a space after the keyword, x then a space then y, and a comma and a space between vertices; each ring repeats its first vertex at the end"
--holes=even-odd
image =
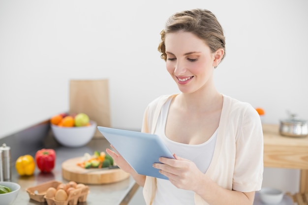
POLYGON ((262 188, 259 193, 261 201, 269 205, 278 204, 283 198, 282 191, 275 188, 265 187, 262 188))

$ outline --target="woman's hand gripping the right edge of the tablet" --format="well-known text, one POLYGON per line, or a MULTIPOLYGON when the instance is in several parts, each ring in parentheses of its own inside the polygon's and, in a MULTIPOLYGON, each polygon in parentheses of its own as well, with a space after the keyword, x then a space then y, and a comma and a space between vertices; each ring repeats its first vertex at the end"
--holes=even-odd
POLYGON ((204 174, 192 161, 176 156, 175 154, 173 156, 175 159, 160 157, 159 161, 162 164, 155 163, 153 167, 159 169, 159 172, 167 176, 169 181, 177 188, 186 190, 196 189, 204 174))

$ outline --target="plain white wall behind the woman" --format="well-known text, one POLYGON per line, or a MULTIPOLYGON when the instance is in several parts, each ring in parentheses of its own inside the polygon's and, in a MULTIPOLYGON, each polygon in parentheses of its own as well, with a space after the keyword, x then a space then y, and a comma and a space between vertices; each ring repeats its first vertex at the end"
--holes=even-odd
POLYGON ((0 138, 67 111, 70 79, 108 78, 112 126, 140 129, 151 100, 178 92, 159 32, 195 7, 225 30, 219 91, 264 108, 266 123, 308 119, 307 0, 0 0, 0 138))

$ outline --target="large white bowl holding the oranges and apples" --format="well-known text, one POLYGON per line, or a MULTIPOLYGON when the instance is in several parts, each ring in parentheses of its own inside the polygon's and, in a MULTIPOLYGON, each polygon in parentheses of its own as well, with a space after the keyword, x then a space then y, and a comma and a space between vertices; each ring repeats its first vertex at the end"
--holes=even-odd
POLYGON ((89 126, 62 127, 51 124, 56 140, 63 146, 79 147, 87 145, 96 131, 96 122, 90 121, 89 126))

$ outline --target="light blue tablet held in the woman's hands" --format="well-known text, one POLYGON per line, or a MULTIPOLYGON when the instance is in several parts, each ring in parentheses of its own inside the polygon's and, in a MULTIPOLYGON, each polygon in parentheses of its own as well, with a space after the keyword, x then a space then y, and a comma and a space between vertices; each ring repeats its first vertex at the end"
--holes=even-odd
POLYGON ((158 135, 101 126, 97 129, 138 174, 168 179, 153 167, 160 163, 159 157, 174 158, 158 135))

